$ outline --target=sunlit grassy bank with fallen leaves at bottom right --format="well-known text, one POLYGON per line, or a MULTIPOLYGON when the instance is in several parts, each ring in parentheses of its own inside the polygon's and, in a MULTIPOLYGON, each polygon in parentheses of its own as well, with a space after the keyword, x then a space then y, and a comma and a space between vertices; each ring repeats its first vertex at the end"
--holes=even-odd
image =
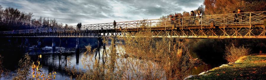
POLYGON ((216 67, 207 75, 194 76, 189 80, 265 80, 266 54, 244 56, 225 67, 216 67))

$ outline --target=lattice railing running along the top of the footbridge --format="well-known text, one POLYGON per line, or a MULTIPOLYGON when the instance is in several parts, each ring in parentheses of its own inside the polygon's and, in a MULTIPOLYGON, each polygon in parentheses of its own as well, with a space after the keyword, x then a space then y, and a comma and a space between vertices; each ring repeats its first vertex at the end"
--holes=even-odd
POLYGON ((40 33, 40 32, 55 32, 55 31, 74 31, 74 30, 111 30, 111 29, 130 29, 145 27, 158 27, 166 28, 172 27, 193 27, 210 25, 213 22, 215 25, 228 25, 228 24, 252 24, 263 23, 263 19, 266 18, 266 11, 259 12, 246 12, 246 13, 230 13, 230 14, 218 14, 218 15, 206 15, 201 17, 179 17, 179 18, 164 18, 164 19, 151 19, 140 21, 126 21, 117 22, 116 26, 113 23, 101 23, 101 24, 89 24, 82 25, 81 28, 77 26, 68 27, 52 27, 52 28, 38 28, 30 30, 15 30, 15 31, 2 31, 1 34, 12 33, 40 33), (235 18, 234 15, 238 17, 235 18), (201 22, 200 22, 201 21, 201 22))

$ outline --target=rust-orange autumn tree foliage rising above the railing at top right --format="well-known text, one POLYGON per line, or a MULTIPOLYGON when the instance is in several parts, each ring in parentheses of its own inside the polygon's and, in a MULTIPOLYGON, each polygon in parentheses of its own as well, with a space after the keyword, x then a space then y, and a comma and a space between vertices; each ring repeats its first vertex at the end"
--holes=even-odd
POLYGON ((241 9, 245 12, 266 11, 265 0, 205 0, 206 15, 232 13, 241 9))

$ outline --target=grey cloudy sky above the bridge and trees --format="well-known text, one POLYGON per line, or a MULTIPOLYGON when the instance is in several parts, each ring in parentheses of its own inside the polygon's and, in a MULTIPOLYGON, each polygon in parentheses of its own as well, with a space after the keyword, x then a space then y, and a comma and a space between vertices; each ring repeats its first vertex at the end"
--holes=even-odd
POLYGON ((59 23, 96 24, 157 19, 162 15, 197 9, 203 0, 1 0, 3 8, 13 7, 23 12, 55 18, 59 23))

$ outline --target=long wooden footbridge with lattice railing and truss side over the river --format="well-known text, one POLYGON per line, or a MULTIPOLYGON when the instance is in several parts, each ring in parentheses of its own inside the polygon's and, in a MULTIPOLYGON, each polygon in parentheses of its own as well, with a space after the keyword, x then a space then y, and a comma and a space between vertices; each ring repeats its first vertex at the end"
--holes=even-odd
POLYGON ((2 37, 125 37, 149 29, 154 38, 266 38, 266 11, 101 23, 0 32, 2 37), (194 20, 193 20, 194 19, 194 20), (201 22, 199 22, 199 20, 201 22), (235 20, 239 21, 236 22, 235 20))

